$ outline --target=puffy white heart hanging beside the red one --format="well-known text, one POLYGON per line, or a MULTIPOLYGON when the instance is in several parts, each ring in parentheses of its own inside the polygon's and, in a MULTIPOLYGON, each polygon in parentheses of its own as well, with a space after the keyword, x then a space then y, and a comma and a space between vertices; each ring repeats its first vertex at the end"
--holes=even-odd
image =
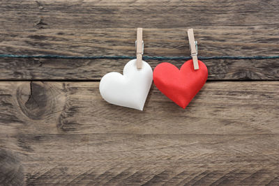
POLYGON ((152 68, 142 61, 137 69, 137 59, 126 63, 123 75, 110 72, 100 80, 100 95, 111 104, 143 110, 144 103, 152 84, 152 68))

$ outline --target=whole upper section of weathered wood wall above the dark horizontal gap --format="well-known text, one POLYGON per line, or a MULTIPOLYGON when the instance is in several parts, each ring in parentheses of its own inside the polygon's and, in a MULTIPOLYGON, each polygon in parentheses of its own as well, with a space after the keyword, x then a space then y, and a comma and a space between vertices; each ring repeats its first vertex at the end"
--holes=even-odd
MULTIPOLYGON (((0 3, 1 54, 189 56, 195 29, 199 56, 279 55, 279 2, 17 1, 0 3)), ((128 60, 0 59, 0 79, 99 80, 128 60)), ((161 61, 149 61, 152 68, 161 61)), ((169 61, 178 67, 184 61, 169 61)), ((279 79, 278 59, 208 60, 211 80, 279 79)))

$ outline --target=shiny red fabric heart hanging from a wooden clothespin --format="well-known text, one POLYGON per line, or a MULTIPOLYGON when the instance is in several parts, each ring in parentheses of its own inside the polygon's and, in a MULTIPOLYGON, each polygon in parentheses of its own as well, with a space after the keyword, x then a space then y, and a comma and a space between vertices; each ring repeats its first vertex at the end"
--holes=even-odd
POLYGON ((171 63, 160 63, 153 71, 157 88, 183 109, 204 86, 207 76, 206 65, 199 61, 199 69, 194 70, 192 59, 186 61, 180 70, 171 63))

